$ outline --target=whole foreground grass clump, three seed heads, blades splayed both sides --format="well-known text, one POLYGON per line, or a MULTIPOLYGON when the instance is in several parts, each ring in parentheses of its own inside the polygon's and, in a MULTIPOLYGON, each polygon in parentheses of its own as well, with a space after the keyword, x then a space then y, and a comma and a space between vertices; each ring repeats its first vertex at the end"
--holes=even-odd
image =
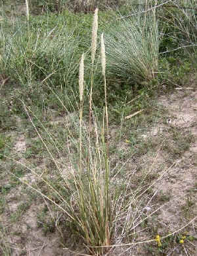
MULTIPOLYGON (((91 45, 91 61, 92 65, 95 61, 95 51, 97 49, 97 26, 98 26, 98 9, 95 11, 95 18, 93 19, 93 36, 91 45)), ((42 179, 42 181, 52 189, 55 199, 51 199, 39 189, 35 189, 38 193, 41 193, 43 197, 54 203, 68 216, 71 226, 76 230, 77 234, 83 239, 85 245, 88 248, 89 253, 93 255, 102 255, 108 246, 112 245, 115 238, 117 229, 125 237, 129 230, 132 230, 134 222, 135 227, 141 223, 139 216, 137 220, 135 218, 131 221, 129 215, 131 214, 131 205, 135 201, 136 207, 139 207, 141 203, 138 203, 136 195, 141 197, 144 191, 141 188, 135 193, 129 191, 129 185, 116 184, 116 176, 119 176, 119 170, 112 174, 110 169, 110 158, 108 152, 108 108, 107 108, 107 95, 106 95, 106 54, 104 34, 101 35, 101 65, 102 76, 104 80, 104 112, 102 124, 99 124, 97 116, 95 115, 91 102, 91 94, 89 95, 89 125, 85 124, 83 120, 83 90, 84 90, 84 55, 81 56, 79 63, 79 117, 76 113, 75 126, 77 138, 72 137, 70 131, 65 131, 67 134, 71 134, 71 137, 67 138, 67 144, 70 141, 74 143, 72 146, 68 146, 67 152, 69 153, 70 168, 66 170, 68 174, 63 172, 59 162, 53 156, 50 147, 47 146, 45 139, 41 137, 39 130, 35 127, 30 114, 26 108, 30 120, 37 131, 37 135, 45 145, 51 159, 56 167, 58 176, 65 184, 64 193, 67 197, 62 195, 61 191, 58 191, 53 183, 48 179, 42 179), (94 136, 93 136, 94 135, 94 136), (107 139, 106 139, 107 138, 107 139), (87 147, 88 145, 88 147, 87 147), (131 196, 131 200, 129 199, 131 196), (58 203, 56 203, 58 201, 58 203), (122 207, 122 208, 121 208, 122 207), (120 225, 120 218, 124 218, 124 223, 120 225), (125 234, 123 234, 125 232, 125 234)), ((93 74, 93 73, 92 73, 93 74)), ((93 75, 92 75, 93 77, 93 75)), ((93 90, 93 78, 91 83, 91 89, 93 90)), ((91 90, 91 92, 92 92, 91 90)), ((58 151, 58 144, 53 141, 53 136, 49 134, 48 144, 54 144, 58 151), (49 143, 49 141, 51 141, 49 143)), ((58 155, 61 152, 58 151, 58 155)), ((32 186, 31 186, 32 187, 32 186)), ((32 187, 33 188, 33 187, 32 187)), ((137 210, 137 208, 136 208, 137 210)))

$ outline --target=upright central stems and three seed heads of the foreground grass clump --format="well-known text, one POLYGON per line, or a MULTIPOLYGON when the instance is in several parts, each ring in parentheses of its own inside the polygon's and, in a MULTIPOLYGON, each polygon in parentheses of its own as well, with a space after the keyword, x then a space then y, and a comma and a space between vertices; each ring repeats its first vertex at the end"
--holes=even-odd
MULTIPOLYGON (((97 29, 98 29, 98 9, 95 10, 95 16, 93 20, 93 34, 92 34, 92 64, 95 61, 95 51, 97 49, 97 29)), ((104 90, 106 92, 106 79, 105 79, 105 50, 103 34, 101 36, 101 63, 102 63, 102 75, 104 76, 104 90)), ((108 159, 107 146, 104 140, 104 127, 100 133, 98 131, 97 120, 93 115, 91 105, 91 94, 89 98, 90 111, 93 115, 93 130, 95 132, 95 146, 91 140, 90 129, 88 141, 89 150, 87 162, 83 161, 83 135, 82 135, 82 113, 83 113, 83 83, 84 83, 84 55, 81 56, 81 62, 79 65, 79 98, 80 98, 80 115, 79 115, 79 171, 77 179, 79 186, 77 189, 77 205, 78 212, 76 219, 76 228, 80 230, 89 251, 93 254, 100 255, 106 251, 106 248, 102 246, 110 245, 112 240, 112 234, 114 232, 114 205, 116 205, 116 199, 114 194, 110 193, 110 165, 108 159), (100 134, 100 137, 99 137, 100 134), (84 169, 86 170, 86 179, 83 179, 84 169)), ((92 74, 93 75, 93 74, 92 74)), ((91 83, 91 92, 93 88, 93 79, 91 83)), ((105 97, 106 98, 106 97, 105 97)), ((106 115, 106 129, 108 131, 108 113, 107 108, 106 115)), ((89 119, 91 122, 91 119, 89 119)), ((76 177, 75 183, 77 184, 76 177)))

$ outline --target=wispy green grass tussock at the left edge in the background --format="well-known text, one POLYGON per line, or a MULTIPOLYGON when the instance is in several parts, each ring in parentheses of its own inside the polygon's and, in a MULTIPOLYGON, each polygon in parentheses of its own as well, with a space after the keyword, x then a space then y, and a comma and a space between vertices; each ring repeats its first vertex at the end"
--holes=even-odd
POLYGON ((60 29, 58 36, 53 36, 54 30, 43 34, 38 29, 35 34, 19 23, 11 37, 2 31, 3 73, 24 85, 49 77, 58 80, 58 85, 71 85, 76 76, 77 43, 66 29, 60 29))

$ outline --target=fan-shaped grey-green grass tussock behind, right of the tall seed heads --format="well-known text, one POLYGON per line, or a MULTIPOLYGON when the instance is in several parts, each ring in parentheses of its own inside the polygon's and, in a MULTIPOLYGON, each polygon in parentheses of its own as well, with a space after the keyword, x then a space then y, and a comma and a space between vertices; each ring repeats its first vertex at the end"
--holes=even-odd
POLYGON ((119 20, 108 30, 108 75, 135 82, 150 81, 158 72, 160 35, 154 11, 119 20))

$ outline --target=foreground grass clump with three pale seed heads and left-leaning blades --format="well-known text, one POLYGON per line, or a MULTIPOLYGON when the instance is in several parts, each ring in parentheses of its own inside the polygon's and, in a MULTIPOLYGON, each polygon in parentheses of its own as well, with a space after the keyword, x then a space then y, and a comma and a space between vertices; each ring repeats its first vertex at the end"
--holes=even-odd
MULTIPOLYGON (((93 38, 92 38, 92 61, 95 60, 95 51, 97 48, 97 20, 98 9, 95 11, 95 18, 93 20, 93 38)), ((104 84, 106 91, 105 79, 105 50, 104 39, 102 34, 102 70, 104 76, 104 84)), ((93 85, 93 84, 92 84, 93 85)), ((76 152, 72 154, 72 149, 68 148, 69 160, 71 168, 68 170, 68 177, 62 173, 55 158, 52 156, 47 144, 39 137, 45 144, 47 151, 51 155, 53 162, 58 169, 60 177, 66 184, 66 191, 68 199, 60 195, 59 191, 53 189, 58 201, 58 207, 70 218, 72 226, 75 228, 80 237, 83 238, 89 251, 93 254, 104 253, 105 249, 102 246, 111 245, 114 233, 114 226, 116 223, 116 204, 118 201, 118 190, 110 183, 110 162, 108 158, 107 144, 105 142, 105 130, 108 131, 107 108, 105 110, 104 119, 106 125, 99 128, 97 118, 91 113, 91 121, 93 121, 93 131, 95 139, 90 133, 91 127, 86 127, 83 121, 83 90, 84 90, 84 55, 81 56, 79 63, 79 143, 76 142, 76 152), (86 146, 89 145, 87 150, 86 146), (99 248, 97 248, 99 247, 99 248)), ((90 95, 90 104, 91 104, 90 95)), ((91 110, 91 105, 90 105, 91 110)), ((69 140, 69 139, 68 139, 69 140)), ((53 187, 48 181, 44 182, 53 187)), ((39 191, 39 193, 41 193, 39 191)), ((43 193, 41 193, 43 195, 43 193)), ((45 195, 43 195, 46 197, 45 195)), ((49 199, 49 197, 46 197, 49 199)), ((53 203, 55 201, 51 200, 53 203)), ((57 205, 55 203, 55 205, 57 205)))

